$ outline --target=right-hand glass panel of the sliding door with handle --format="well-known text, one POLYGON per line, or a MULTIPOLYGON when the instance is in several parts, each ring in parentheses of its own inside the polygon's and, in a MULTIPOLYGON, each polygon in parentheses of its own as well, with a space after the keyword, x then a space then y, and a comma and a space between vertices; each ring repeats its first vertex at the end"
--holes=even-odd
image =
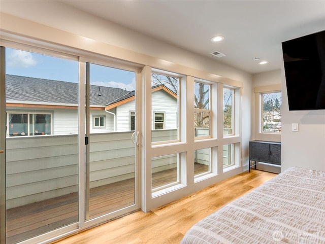
POLYGON ((136 73, 86 63, 86 220, 136 203, 136 73))

